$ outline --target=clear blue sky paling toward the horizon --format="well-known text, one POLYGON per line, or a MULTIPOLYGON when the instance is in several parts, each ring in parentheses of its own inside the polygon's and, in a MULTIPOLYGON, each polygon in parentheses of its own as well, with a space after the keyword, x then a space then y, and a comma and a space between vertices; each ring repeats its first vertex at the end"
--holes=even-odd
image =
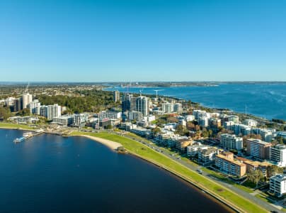
POLYGON ((0 0, 0 81, 286 81, 285 0, 0 0))

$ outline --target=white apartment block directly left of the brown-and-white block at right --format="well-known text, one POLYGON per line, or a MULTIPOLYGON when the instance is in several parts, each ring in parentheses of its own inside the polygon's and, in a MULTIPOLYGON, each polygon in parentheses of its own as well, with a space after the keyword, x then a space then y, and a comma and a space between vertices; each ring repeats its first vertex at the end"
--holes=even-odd
POLYGON ((240 151, 243 148, 243 139, 225 133, 221 135, 220 145, 226 150, 236 149, 240 151))

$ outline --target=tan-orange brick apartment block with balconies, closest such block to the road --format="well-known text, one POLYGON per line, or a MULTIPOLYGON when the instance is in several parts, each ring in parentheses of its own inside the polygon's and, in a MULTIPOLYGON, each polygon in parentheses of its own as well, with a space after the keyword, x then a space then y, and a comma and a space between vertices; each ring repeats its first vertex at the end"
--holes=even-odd
POLYGON ((237 177, 242 177, 246 174, 246 165, 239 160, 234 160, 234 153, 220 153, 215 156, 214 162, 223 173, 237 177))

